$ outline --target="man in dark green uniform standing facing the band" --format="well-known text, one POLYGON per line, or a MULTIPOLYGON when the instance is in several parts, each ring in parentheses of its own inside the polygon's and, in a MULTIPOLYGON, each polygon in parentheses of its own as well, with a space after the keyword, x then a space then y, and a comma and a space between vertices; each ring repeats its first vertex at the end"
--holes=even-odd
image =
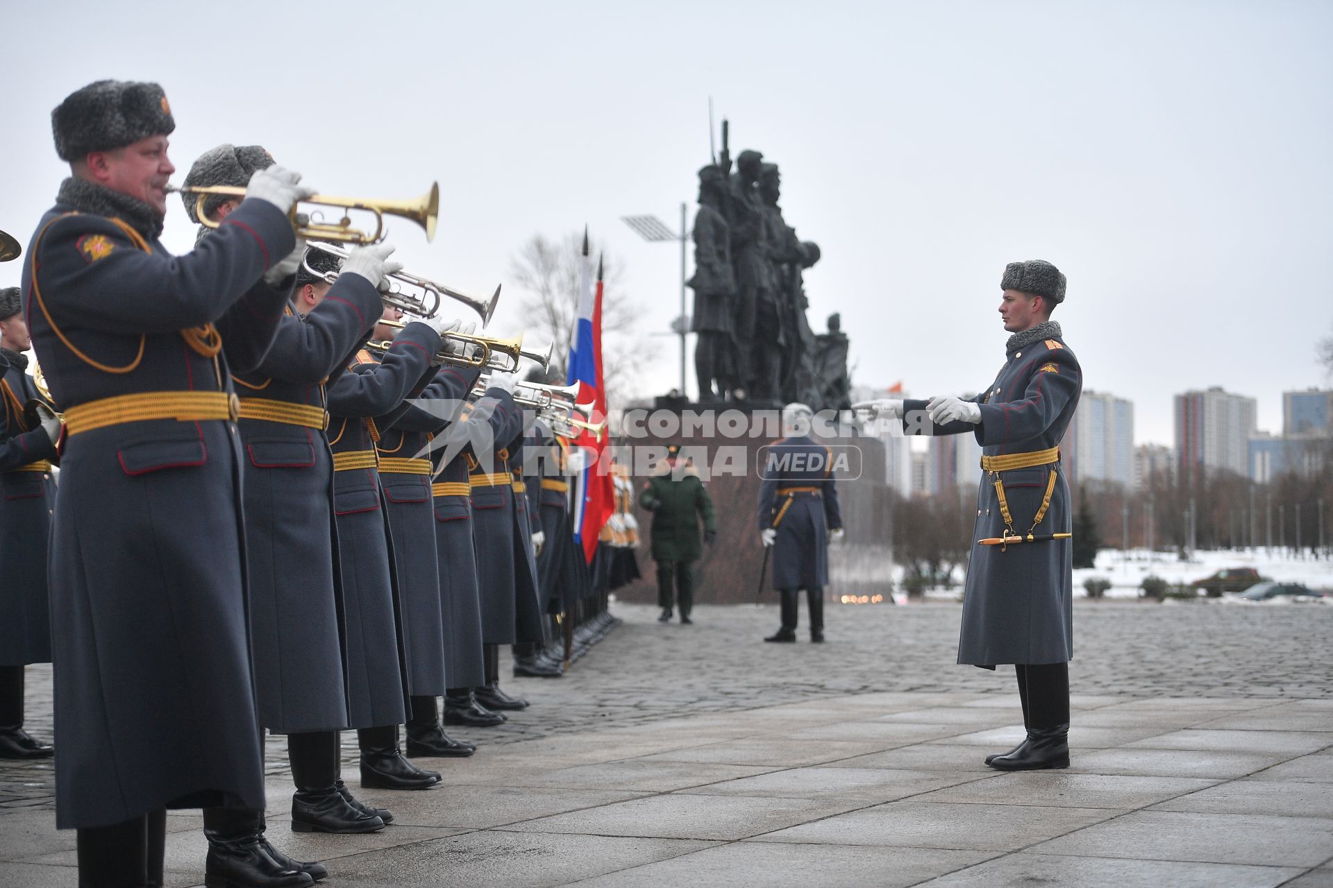
POLYGON ((659 622, 672 616, 673 599, 680 600, 680 622, 692 623, 694 608, 694 562, 704 554, 698 522, 704 522, 704 542, 717 538, 713 501, 704 490, 698 471, 688 461, 680 465, 680 446, 666 447, 666 459, 639 494, 639 505, 653 513, 653 560, 657 562, 659 622))

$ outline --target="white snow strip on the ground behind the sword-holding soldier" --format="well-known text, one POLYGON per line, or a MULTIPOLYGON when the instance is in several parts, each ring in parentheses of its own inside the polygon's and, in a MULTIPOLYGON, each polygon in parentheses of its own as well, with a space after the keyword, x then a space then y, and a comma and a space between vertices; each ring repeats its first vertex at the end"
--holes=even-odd
MULTIPOLYGON (((1096 567, 1074 571, 1074 598, 1085 596, 1084 580, 1101 576, 1110 580, 1106 598, 1137 598, 1138 584, 1145 576, 1161 576, 1172 586, 1192 583, 1210 576, 1224 567, 1253 567, 1260 575, 1280 583, 1304 583, 1314 590, 1333 592, 1333 558, 1314 558, 1308 551, 1301 555, 1281 549, 1228 549, 1197 551, 1189 560, 1180 560, 1176 553, 1148 553, 1145 549, 1102 549, 1097 553, 1096 567)), ((898 568, 901 571, 901 568, 898 568)), ((954 588, 926 590, 930 599, 957 599, 962 595, 964 568, 954 570, 954 588)), ((901 572, 894 576, 901 588, 901 572)), ((1216 600, 1216 599, 1214 599, 1216 600)))

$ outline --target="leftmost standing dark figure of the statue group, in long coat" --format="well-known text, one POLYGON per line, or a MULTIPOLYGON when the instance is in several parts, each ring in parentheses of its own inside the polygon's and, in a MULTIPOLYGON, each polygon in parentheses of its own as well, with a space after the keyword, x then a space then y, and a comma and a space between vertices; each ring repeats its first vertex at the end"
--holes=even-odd
POLYGON ((724 399, 740 385, 736 378, 736 350, 732 342, 732 313, 736 276, 732 272, 732 245, 726 217, 726 174, 709 164, 698 170, 698 213, 694 216, 694 374, 698 399, 724 399), (716 381, 717 386, 713 387, 716 381))

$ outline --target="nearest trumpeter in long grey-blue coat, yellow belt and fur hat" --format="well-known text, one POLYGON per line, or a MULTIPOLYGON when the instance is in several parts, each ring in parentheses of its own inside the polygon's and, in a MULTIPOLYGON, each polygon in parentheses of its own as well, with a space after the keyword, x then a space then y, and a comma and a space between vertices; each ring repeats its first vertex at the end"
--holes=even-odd
POLYGON ((23 300, 64 411, 51 541, 56 823, 84 884, 160 880, 164 808, 205 821, 209 883, 303 885, 264 808, 229 371, 268 351, 309 194, 269 168, 193 252, 159 236, 175 172, 161 88, 99 81, 52 113, 71 165, 25 253, 23 300))

